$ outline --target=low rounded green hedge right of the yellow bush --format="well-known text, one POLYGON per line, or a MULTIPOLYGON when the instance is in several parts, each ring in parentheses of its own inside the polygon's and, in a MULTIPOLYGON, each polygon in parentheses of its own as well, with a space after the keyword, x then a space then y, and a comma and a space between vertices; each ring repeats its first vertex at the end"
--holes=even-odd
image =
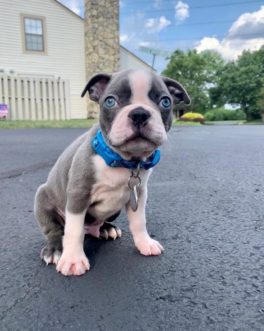
POLYGON ((204 115, 207 121, 226 121, 226 120, 244 120, 246 119, 246 114, 242 109, 223 109, 215 108, 206 112, 204 115))

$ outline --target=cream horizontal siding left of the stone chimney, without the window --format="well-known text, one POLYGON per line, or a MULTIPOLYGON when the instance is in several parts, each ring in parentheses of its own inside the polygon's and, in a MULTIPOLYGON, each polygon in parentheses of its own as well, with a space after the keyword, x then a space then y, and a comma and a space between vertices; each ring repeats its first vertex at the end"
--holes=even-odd
POLYGON ((0 12, 0 69, 69 79, 71 118, 86 118, 83 20, 54 0, 1 0, 0 12), (46 17, 47 55, 22 53, 20 13, 46 17))

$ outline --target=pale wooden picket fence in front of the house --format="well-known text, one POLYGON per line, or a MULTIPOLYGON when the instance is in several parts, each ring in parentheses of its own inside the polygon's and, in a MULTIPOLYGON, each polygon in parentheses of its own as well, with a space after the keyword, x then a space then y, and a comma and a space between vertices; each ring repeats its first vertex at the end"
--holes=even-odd
POLYGON ((11 120, 70 119, 69 81, 0 73, 0 104, 11 120))

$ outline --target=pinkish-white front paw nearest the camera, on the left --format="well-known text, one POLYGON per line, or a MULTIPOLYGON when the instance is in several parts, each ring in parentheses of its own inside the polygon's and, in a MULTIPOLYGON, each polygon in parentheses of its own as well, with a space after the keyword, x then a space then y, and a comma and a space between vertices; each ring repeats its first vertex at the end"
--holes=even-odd
POLYGON ((89 270, 89 260, 84 252, 62 252, 61 258, 57 263, 56 270, 64 276, 81 276, 89 270))

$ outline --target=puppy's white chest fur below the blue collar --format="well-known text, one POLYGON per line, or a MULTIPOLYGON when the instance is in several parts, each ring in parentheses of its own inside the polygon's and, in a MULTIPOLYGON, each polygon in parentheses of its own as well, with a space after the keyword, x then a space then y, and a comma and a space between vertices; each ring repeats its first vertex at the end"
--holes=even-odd
MULTIPOLYGON (((91 192, 91 206, 88 212, 97 219, 105 220, 117 213, 128 201, 131 189, 127 185, 130 170, 127 168, 114 168, 105 164, 98 155, 95 157, 96 183, 91 192)), ((140 170, 140 188, 147 185, 151 170, 140 170)))

